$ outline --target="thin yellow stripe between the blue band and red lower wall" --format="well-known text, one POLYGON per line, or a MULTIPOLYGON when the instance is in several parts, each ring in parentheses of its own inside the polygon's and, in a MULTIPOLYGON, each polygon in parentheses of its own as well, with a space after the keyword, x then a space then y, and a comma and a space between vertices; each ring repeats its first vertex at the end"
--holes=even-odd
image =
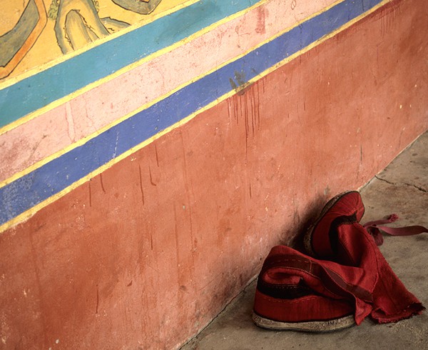
MULTIPOLYGON (((366 11, 364 14, 361 14, 360 16, 357 16, 355 19, 352 19, 351 21, 347 22, 347 24, 344 24, 340 28, 336 29, 335 31, 332 31, 332 33, 322 36, 322 38, 318 39, 317 41, 313 42, 309 46, 305 47, 305 49, 302 49, 300 51, 297 51, 295 54, 292 54, 291 56, 287 57, 286 59, 278 62, 275 64, 275 66, 270 67, 270 69, 266 69, 263 71, 262 74, 259 74, 258 76, 255 76, 253 79, 250 79, 248 83, 252 84, 255 81, 263 78, 267 74, 271 73, 272 71, 280 68, 280 66, 283 66, 287 64, 288 62, 292 61, 292 59, 297 58, 298 56, 305 54, 305 52, 309 51, 310 49, 314 48, 315 46, 318 46, 319 44, 322 44, 324 41, 332 38, 332 36, 335 36, 340 31, 343 31, 347 29, 348 27, 352 26, 352 24, 355 24, 355 22, 360 21, 364 17, 372 14, 372 12, 376 11, 380 7, 384 6, 384 4, 389 3, 392 0, 384 0, 377 4, 376 6, 372 7, 372 9, 366 11)), ((81 184, 84 184, 89 179, 93 178, 94 176, 101 174, 103 171, 106 171, 107 169, 111 168, 114 164, 118 163, 119 161, 125 159, 127 156, 130 156, 131 154, 135 153, 136 151, 139 151, 140 149, 143 149, 143 147, 147 146, 148 144, 151 144, 156 139, 160 138, 161 136, 168 134, 168 132, 172 131, 173 129, 176 129, 180 126, 183 126, 191 119, 195 118, 198 114, 202 113, 203 111, 206 111, 207 109, 210 109, 211 107, 215 106, 215 104, 219 104, 220 102, 224 101, 225 99, 228 99, 230 96, 233 96, 235 94, 235 90, 229 91, 227 94, 224 94, 220 98, 216 99, 215 101, 211 102, 207 106, 203 107, 202 109, 195 111, 193 114, 190 114, 188 117, 178 121, 177 123, 173 124, 172 126, 169 126, 168 128, 164 129, 163 131, 160 131, 158 134, 152 136, 150 139, 147 139, 146 141, 143 141, 141 144, 138 144, 138 146, 135 146, 128 151, 124 152, 120 156, 117 156, 115 159, 112 159, 108 163, 104 164, 103 166, 99 167, 95 171, 92 171, 90 174, 84 176, 82 179, 74 182, 70 186, 68 186, 66 189, 63 189, 62 191, 58 192, 57 194, 54 194, 54 196, 49 197, 49 199, 46 199, 45 201, 42 201, 41 203, 37 204, 36 206, 33 206, 31 209, 24 211, 24 213, 20 214, 19 216, 16 216, 14 219, 11 219, 10 221, 6 222, 5 224, 0 226, 0 234, 9 229, 11 226, 14 226, 16 224, 19 224, 19 222, 24 221, 26 219, 29 219, 31 216, 36 214, 37 211, 40 209, 43 209, 45 206, 48 206, 49 204, 53 203, 57 199, 61 198, 62 196, 68 194, 69 192, 73 191, 73 189, 76 189, 81 184)))

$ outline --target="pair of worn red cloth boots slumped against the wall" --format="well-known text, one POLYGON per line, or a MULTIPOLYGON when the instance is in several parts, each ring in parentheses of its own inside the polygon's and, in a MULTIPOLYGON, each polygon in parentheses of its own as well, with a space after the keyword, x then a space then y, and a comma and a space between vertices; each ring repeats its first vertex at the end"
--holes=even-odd
MULTIPOLYGON (((362 226, 363 214, 357 191, 340 194, 307 231, 305 254, 288 246, 272 248, 258 277, 255 324, 276 330, 334 331, 361 324, 369 315, 387 323, 422 312, 424 306, 377 248, 382 244, 379 222, 362 226)), ((427 231, 422 226, 390 230, 427 231)))

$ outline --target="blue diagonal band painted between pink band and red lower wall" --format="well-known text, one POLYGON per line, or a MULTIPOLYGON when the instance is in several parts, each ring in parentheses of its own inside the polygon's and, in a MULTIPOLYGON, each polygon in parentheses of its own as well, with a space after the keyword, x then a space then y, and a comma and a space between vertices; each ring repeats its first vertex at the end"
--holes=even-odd
POLYGON ((76 149, 0 189, 0 224, 66 189, 116 156, 230 92, 237 74, 248 81, 330 34, 381 0, 347 0, 305 21, 240 59, 185 86, 76 149))

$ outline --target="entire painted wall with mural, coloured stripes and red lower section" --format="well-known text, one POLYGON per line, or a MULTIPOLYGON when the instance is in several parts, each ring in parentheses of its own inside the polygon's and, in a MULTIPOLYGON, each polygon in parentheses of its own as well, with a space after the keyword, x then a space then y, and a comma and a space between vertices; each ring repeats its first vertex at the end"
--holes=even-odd
POLYGON ((424 0, 136 2, 9 5, 4 349, 180 346, 428 128, 424 0))

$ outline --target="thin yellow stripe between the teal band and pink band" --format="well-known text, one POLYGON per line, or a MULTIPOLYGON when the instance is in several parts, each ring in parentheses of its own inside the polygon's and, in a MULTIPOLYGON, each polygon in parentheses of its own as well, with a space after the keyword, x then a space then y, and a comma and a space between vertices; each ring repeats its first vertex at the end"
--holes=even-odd
MULTIPOLYGON (((200 0, 198 0, 198 1, 200 1, 200 0)), ((192 41, 193 39, 198 38, 199 36, 203 36, 204 34, 208 33, 208 31, 212 31, 216 27, 218 27, 224 23, 227 23, 228 21, 232 21, 233 19, 238 18, 239 16, 243 16, 244 14, 246 14, 249 11, 252 11, 256 7, 265 4, 265 2, 267 2, 267 1, 269 1, 269 0, 262 0, 262 1, 258 2, 257 4, 254 4, 253 6, 250 6, 246 9, 243 9, 243 10, 241 10, 241 11, 239 11, 239 12, 237 12, 231 16, 225 17, 224 19, 221 19, 218 22, 210 24, 210 26, 207 26, 204 29, 201 29, 200 31, 193 33, 192 35, 186 37, 185 39, 182 39, 180 41, 175 42, 174 44, 172 44, 170 46, 167 46, 163 49, 160 49, 160 50, 154 52, 153 54, 150 54, 150 55, 144 57, 143 59, 141 59, 139 61, 136 61, 132 64, 129 64, 128 66, 125 66, 121 69, 118 69, 118 71, 115 71, 113 74, 110 74, 109 76, 106 76, 106 77, 99 79, 97 81, 93 81, 92 83, 84 86, 83 88, 78 89, 76 91, 73 91, 71 94, 68 94, 67 96, 61 97, 61 99, 57 99, 57 100, 51 102, 50 104, 47 104, 46 106, 41 107, 40 109, 37 109, 36 111, 33 111, 33 112, 27 114, 26 116, 23 116, 23 117, 17 119, 16 121, 12 121, 10 124, 2 126, 0 128, 0 135, 6 133, 7 131, 15 129, 16 127, 18 127, 22 124, 25 124, 26 122, 31 121, 32 119, 37 118, 41 114, 45 114, 47 111, 50 111, 51 109, 54 109, 58 106, 61 106, 62 104, 66 104, 66 102, 71 101, 72 99, 75 99, 77 96, 80 96, 81 94, 84 94, 85 92, 87 92, 91 89, 94 89, 97 86, 100 86, 100 85, 106 83, 107 81, 111 81, 112 79, 115 79, 117 76, 125 74, 126 72, 131 71, 132 69, 136 68, 137 66, 141 66, 141 64, 144 64, 146 61, 151 61, 152 59, 156 59, 156 57, 161 56, 163 54, 166 54, 167 52, 173 51, 173 49, 176 49, 179 46, 183 46, 183 45, 187 44, 188 42, 192 41)), ((197 1, 194 1, 194 2, 197 2, 197 1)), ((120 33, 121 33, 121 31, 118 32, 118 34, 120 34, 120 33)), ((111 34, 111 35, 115 35, 115 34, 111 34)), ((85 49, 87 49, 87 47, 85 47, 85 49)), ((60 58, 60 59, 62 61, 66 61, 66 59, 64 59, 64 58, 60 58)), ((68 56, 67 56, 67 59, 68 59, 68 56)))

